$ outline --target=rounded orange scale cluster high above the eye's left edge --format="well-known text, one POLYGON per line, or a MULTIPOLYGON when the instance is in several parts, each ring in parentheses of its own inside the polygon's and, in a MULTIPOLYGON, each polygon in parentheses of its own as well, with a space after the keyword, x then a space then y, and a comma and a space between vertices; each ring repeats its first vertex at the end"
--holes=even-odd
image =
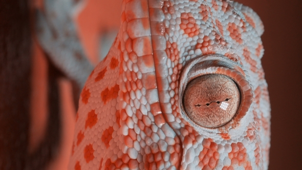
POLYGON ((180 18, 180 28, 183 29, 189 37, 199 34, 200 26, 196 24, 196 19, 193 17, 192 13, 181 13, 180 18))

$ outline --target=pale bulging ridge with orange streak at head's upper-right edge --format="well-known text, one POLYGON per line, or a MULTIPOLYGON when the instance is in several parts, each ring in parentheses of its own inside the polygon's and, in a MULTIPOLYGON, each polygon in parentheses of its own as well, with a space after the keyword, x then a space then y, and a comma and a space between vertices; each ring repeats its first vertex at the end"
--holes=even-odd
POLYGON ((243 4, 234 2, 233 6, 243 13, 246 21, 256 30, 257 34, 261 36, 264 32, 264 26, 259 15, 253 11, 253 9, 243 4))

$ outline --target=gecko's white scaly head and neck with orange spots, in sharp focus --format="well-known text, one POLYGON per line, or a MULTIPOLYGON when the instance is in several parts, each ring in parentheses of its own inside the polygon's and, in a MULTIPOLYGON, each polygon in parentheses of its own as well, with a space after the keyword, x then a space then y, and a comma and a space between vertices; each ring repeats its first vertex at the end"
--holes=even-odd
POLYGON ((263 31, 232 1, 124 0, 116 40, 80 95, 69 169, 267 169, 263 31), (186 113, 197 93, 193 107, 213 112, 186 113))

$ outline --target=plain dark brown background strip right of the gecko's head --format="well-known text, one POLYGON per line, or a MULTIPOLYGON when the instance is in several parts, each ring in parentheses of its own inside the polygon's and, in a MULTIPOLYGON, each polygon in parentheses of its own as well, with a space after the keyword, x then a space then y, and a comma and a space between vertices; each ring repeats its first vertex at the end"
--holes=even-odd
POLYGON ((263 21, 262 65, 271 101, 269 169, 302 169, 302 2, 238 0, 263 21))

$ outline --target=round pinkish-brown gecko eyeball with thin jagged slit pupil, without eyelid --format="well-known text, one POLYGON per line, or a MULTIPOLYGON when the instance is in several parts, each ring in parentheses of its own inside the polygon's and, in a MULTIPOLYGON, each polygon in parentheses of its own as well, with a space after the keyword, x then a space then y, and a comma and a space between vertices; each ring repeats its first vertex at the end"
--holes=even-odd
POLYGON ((206 128, 229 122, 239 109, 240 90, 228 76, 206 74, 192 79, 184 90, 183 107, 188 117, 206 128))

